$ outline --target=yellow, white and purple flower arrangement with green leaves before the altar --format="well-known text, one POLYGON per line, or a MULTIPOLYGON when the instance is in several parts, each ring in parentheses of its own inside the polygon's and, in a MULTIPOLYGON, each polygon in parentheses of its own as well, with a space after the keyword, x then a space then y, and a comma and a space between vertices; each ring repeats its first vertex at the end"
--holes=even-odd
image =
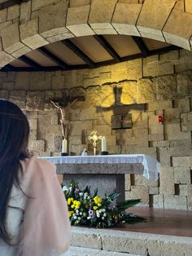
POLYGON ((89 227, 113 227, 124 223, 146 222, 146 218, 129 214, 125 210, 137 205, 141 200, 126 200, 116 203, 120 194, 117 192, 98 196, 98 189, 92 196, 90 187, 80 190, 78 183, 72 181, 69 187, 63 186, 63 192, 68 203, 68 215, 72 225, 85 225, 89 227))

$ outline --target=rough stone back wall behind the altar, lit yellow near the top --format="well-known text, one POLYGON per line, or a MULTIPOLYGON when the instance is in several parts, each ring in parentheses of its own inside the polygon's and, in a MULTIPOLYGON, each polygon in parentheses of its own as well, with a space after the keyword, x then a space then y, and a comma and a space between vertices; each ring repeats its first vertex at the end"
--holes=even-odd
POLYGON ((145 153, 161 163, 159 181, 126 175, 127 198, 142 205, 192 210, 192 54, 170 51, 103 68, 50 73, 0 73, 0 97, 18 104, 31 126, 30 150, 38 156, 59 156, 59 113, 50 99, 63 94, 85 95, 70 109, 69 150, 93 152, 87 139, 92 130, 107 137, 111 153, 145 153), (111 115, 131 113, 133 128, 111 130, 111 115), (138 108, 134 104, 144 104, 138 108), (113 106, 113 107, 111 107, 113 106), (164 124, 157 117, 164 115, 164 124))

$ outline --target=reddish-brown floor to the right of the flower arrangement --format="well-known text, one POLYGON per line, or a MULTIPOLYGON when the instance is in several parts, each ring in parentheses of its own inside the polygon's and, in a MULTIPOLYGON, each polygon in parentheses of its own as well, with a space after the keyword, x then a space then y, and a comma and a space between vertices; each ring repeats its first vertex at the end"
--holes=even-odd
POLYGON ((129 212, 147 218, 147 223, 125 225, 113 229, 172 236, 192 237, 192 211, 133 208, 129 212))

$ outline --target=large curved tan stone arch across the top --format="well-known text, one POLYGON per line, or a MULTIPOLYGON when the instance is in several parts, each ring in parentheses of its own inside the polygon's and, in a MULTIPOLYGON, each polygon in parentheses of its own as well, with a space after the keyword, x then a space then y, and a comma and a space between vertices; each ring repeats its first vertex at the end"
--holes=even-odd
POLYGON ((0 24, 0 67, 51 42, 95 33, 151 38, 191 51, 192 10, 186 9, 187 2, 185 10, 184 0, 23 2, 2 10, 7 15, 0 24))

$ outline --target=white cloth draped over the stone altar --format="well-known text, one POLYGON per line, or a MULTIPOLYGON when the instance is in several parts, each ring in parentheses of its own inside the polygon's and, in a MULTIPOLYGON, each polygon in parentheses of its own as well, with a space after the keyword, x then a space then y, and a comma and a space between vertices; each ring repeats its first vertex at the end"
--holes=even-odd
POLYGON ((107 155, 107 156, 69 156, 69 157, 39 157, 59 164, 142 164, 143 176, 146 179, 158 179, 160 163, 154 157, 143 154, 107 155))

